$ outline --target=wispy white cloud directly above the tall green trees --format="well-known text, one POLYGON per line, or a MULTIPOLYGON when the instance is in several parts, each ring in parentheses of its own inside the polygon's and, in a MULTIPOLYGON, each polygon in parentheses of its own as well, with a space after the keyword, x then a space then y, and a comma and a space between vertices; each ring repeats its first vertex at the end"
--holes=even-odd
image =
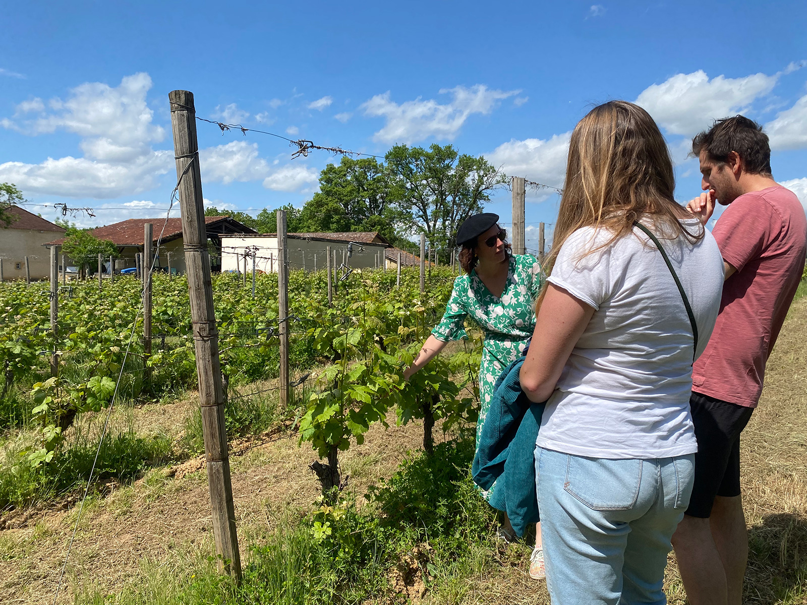
POLYGON ((470 115, 490 114, 497 102, 519 92, 521 91, 491 90, 482 84, 470 88, 456 86, 440 90, 440 94, 452 96, 451 102, 445 104, 420 97, 398 104, 387 91, 376 94, 363 103, 361 108, 366 116, 383 117, 387 120, 384 127, 374 134, 373 139, 376 141, 411 144, 430 137, 453 140, 470 115))

